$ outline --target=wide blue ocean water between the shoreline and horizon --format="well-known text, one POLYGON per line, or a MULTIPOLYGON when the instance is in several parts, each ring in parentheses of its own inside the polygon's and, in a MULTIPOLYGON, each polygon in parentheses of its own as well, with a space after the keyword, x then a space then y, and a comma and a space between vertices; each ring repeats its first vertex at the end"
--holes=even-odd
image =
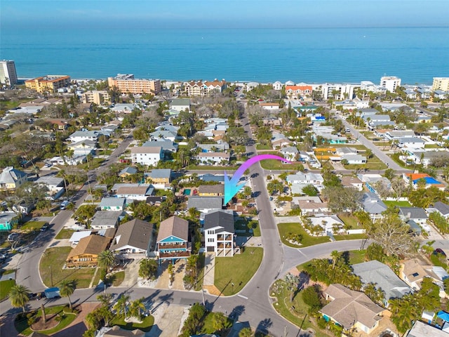
POLYGON ((1 29, 18 77, 117 73, 168 80, 407 84, 449 76, 449 27, 326 29, 1 29))

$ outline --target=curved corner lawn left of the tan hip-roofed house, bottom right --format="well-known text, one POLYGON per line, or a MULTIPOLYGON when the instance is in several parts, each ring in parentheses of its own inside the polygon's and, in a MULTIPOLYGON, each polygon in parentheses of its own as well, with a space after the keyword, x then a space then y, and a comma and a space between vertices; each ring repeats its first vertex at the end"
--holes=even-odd
POLYGON ((302 300, 301 292, 297 293, 293 297, 293 301, 290 302, 290 293, 286 287, 285 282, 279 279, 272 285, 270 289, 270 296, 276 298, 273 303, 273 308, 281 314, 282 317, 293 322, 297 326, 301 326, 301 329, 307 330, 309 328, 316 331, 316 337, 328 337, 326 333, 321 331, 318 326, 312 324, 311 317, 308 315, 308 306, 302 300))

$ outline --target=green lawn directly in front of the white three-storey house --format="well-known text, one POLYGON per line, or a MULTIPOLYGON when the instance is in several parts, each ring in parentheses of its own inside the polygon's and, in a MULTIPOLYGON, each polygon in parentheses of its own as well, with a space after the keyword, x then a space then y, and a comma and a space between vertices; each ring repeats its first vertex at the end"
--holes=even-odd
POLYGON ((242 253, 232 258, 215 258, 215 286, 225 296, 232 295, 232 283, 234 293, 243 289, 253 277, 262 262, 262 248, 246 247, 242 253), (229 273, 232 270, 232 273, 229 273))

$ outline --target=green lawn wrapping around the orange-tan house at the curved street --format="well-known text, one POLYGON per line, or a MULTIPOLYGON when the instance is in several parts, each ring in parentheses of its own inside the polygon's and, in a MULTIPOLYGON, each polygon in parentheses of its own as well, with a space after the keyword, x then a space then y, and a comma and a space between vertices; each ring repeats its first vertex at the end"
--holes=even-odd
POLYGON ((47 249, 41 258, 39 272, 46 286, 58 286, 63 279, 75 279, 76 288, 87 288, 91 283, 95 268, 62 269, 72 249, 70 247, 53 247, 47 249))

